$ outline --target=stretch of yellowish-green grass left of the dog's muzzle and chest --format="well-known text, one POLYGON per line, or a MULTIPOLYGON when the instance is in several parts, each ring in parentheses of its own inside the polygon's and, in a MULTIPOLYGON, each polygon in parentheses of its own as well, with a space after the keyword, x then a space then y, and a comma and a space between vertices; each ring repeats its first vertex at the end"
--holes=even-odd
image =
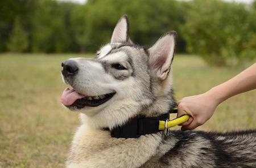
POLYGON ((70 57, 0 55, 0 167, 64 167, 79 126, 59 101, 61 62, 70 57))

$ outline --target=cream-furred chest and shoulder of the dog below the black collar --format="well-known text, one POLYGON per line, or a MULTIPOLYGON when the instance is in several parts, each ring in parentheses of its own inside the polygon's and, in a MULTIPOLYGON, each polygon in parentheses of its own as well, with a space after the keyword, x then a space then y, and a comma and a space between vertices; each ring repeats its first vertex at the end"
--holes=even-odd
POLYGON ((161 141, 159 135, 116 139, 108 131, 81 126, 73 139, 67 165, 139 167, 156 153, 161 141))

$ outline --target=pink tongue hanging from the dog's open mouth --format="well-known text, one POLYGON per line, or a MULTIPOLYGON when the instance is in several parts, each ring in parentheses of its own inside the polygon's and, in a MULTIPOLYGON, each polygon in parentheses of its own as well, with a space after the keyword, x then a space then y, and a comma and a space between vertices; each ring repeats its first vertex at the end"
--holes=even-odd
POLYGON ((65 106, 72 105, 77 99, 83 98, 81 94, 77 93, 74 89, 65 88, 61 95, 60 101, 65 106))

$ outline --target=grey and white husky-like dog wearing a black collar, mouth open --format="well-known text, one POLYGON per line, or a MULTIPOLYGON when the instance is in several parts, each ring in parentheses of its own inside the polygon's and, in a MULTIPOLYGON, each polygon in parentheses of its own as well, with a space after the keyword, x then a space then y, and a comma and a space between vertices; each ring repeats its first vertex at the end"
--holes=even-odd
POLYGON ((81 126, 66 165, 81 167, 256 167, 256 131, 216 133, 159 130, 176 106, 171 31, 146 49, 129 37, 122 16, 111 42, 92 59, 61 66, 62 104, 80 112, 81 126))

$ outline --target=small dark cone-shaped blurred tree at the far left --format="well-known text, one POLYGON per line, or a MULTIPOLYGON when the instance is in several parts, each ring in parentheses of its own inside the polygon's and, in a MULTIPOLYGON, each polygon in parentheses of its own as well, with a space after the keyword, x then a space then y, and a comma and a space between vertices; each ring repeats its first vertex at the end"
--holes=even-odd
POLYGON ((11 32, 10 41, 7 43, 7 48, 9 51, 16 53, 26 51, 28 48, 28 37, 20 24, 19 17, 15 19, 14 29, 13 32, 11 32))

